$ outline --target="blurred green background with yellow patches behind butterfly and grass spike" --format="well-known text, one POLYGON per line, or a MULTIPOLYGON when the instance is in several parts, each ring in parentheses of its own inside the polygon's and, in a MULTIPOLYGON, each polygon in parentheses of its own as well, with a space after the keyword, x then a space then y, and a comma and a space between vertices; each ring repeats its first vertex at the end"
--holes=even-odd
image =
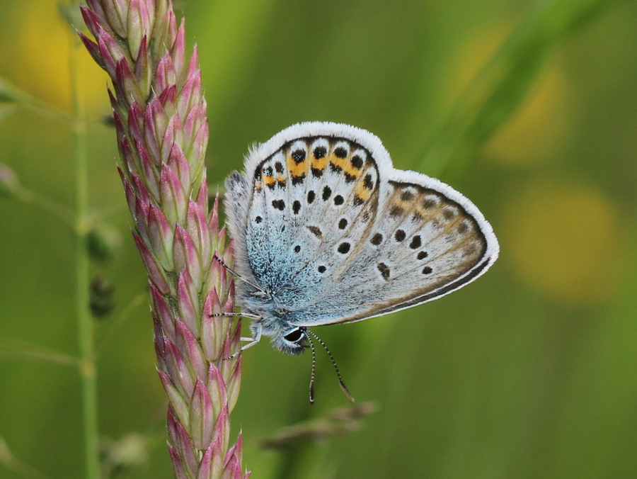
MULTIPOLYGON (((247 351, 232 425, 253 477, 637 477, 636 2, 185 0, 177 11, 200 48, 211 185, 287 125, 352 123, 379 135, 396 167, 469 196, 502 248, 486 276, 441 300, 315 329, 357 403, 377 406, 360 430, 261 449, 348 402, 325 355, 310 406, 309 355, 267 342, 247 351), (453 132, 490 81, 478 72, 538 8, 561 4, 516 54, 532 65, 532 48, 546 47, 521 107, 492 137, 478 122, 458 146, 453 132), (577 28, 544 35, 578 4, 577 28), (444 150, 449 132, 459 153, 427 149, 444 150)), ((56 1, 0 3, 0 76, 67 113, 72 43, 56 1)), ((508 100, 488 113, 504 118, 532 73, 507 79, 508 100)), ((84 52, 81 75, 91 208, 120 237, 113 259, 91 266, 116 287, 96 324, 101 435, 141 462, 113 477, 170 478, 147 281, 115 132, 99 121, 107 79, 84 52)), ((0 103, 0 119, 0 162, 48 198, 0 198, 0 478, 81 477, 79 378, 51 352, 78 354, 73 235, 46 209, 73 208, 71 125, 15 103, 0 103)))

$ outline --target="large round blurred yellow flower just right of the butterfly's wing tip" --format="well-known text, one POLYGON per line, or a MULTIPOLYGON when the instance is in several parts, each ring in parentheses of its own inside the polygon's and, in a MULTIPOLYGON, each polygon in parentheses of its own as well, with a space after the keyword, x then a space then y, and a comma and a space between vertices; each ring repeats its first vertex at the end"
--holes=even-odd
POLYGON ((594 186, 536 180, 505 206, 502 256, 524 280, 563 303, 601 303, 614 288, 619 225, 615 206, 594 186))

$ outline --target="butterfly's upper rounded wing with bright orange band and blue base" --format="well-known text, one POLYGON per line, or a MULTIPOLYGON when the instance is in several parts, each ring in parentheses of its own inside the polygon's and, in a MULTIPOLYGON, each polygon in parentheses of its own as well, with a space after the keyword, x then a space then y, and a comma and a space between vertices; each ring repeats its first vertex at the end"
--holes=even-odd
POLYGON ((287 309, 333 286, 377 213, 376 162, 335 137, 287 142, 254 172, 246 249, 256 281, 287 309))

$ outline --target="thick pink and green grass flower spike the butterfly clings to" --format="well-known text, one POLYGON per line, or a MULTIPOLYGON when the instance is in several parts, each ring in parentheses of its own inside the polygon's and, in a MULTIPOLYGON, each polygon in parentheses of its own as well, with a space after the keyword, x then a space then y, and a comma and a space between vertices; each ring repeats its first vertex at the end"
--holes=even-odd
POLYGON ((197 47, 188 58, 184 23, 177 28, 170 0, 86 3, 82 16, 96 41, 79 35, 113 80, 108 94, 118 169, 148 270, 175 476, 248 478, 241 434, 229 444, 241 325, 211 317, 234 310, 234 281, 215 259, 217 252, 232 264, 232 244, 219 229, 219 202, 208 211, 208 123, 197 47))

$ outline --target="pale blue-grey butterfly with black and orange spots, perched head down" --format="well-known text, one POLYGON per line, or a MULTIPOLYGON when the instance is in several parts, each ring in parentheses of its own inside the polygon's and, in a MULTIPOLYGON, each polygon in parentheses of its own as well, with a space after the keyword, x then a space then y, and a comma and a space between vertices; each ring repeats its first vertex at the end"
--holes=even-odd
MULTIPOLYGON (((395 169, 376 135, 292 125, 226 179, 236 300, 253 341, 304 351, 309 327, 367 320, 440 298, 498 258, 476 206, 451 186, 395 169)), ((318 339, 318 338, 316 338, 318 339)), ((322 343, 321 343, 322 344, 322 343)), ((314 349, 313 349, 314 351, 314 349)))

